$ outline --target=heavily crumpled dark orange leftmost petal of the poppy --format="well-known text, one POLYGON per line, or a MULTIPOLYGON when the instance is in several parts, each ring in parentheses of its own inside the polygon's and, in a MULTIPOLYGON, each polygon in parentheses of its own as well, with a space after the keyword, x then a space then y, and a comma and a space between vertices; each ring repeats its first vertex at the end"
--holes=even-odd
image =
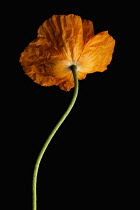
POLYGON ((45 38, 32 41, 22 52, 20 62, 25 73, 42 86, 59 85, 72 74, 68 61, 45 38))

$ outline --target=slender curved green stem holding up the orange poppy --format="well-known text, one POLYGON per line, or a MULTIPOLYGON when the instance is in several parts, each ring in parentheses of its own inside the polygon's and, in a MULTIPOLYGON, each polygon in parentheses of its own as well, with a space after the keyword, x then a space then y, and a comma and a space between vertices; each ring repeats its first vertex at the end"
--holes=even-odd
POLYGON ((42 149, 41 149, 41 151, 38 155, 38 158, 37 158, 37 161, 36 161, 36 164, 35 164, 35 167, 34 167, 33 182, 32 182, 32 202, 33 202, 32 205, 33 205, 33 210, 37 210, 37 174, 38 174, 38 169, 39 169, 41 159, 42 159, 43 154, 44 154, 45 150, 47 149, 51 139, 55 135, 56 131, 58 130, 58 128, 61 126, 61 124, 64 122, 64 120, 66 119, 66 117, 70 113, 70 111, 71 111, 71 109, 72 109, 72 107, 73 107, 73 105, 76 101, 77 95, 78 95, 79 84, 78 84, 78 78, 77 78, 77 73, 76 73, 77 66, 72 65, 72 66, 70 66, 70 69, 72 70, 73 77, 74 77, 74 83, 75 83, 73 97, 72 97, 72 100, 71 100, 67 110, 65 111, 65 113, 63 114, 61 119, 58 121, 58 123, 56 124, 56 126, 54 127, 52 132, 50 133, 49 137, 47 138, 45 144, 43 145, 43 147, 42 147, 42 149))

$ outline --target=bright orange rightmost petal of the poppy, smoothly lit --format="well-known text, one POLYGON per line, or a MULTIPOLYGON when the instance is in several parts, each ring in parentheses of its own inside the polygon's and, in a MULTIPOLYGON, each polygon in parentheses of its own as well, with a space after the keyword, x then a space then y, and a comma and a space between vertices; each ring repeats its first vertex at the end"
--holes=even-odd
POLYGON ((105 71, 111 62, 114 46, 115 40, 107 31, 92 37, 78 60, 79 71, 85 73, 105 71))

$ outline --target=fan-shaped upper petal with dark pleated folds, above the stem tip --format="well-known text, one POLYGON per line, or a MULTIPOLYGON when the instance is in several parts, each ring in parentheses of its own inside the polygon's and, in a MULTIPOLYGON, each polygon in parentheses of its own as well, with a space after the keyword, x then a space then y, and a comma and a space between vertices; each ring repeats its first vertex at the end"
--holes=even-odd
POLYGON ((38 37, 46 38, 69 61, 76 61, 83 50, 81 17, 53 15, 39 27, 38 37))

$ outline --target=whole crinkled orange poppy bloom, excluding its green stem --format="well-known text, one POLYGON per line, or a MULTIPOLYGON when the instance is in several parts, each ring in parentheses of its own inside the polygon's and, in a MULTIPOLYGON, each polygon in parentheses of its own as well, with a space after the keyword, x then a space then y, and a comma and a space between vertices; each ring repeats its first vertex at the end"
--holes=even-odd
POLYGON ((74 87, 70 66, 77 66, 78 79, 103 72, 111 62, 115 40, 103 31, 94 35, 93 23, 77 15, 53 15, 21 53, 25 73, 42 86, 74 87))

